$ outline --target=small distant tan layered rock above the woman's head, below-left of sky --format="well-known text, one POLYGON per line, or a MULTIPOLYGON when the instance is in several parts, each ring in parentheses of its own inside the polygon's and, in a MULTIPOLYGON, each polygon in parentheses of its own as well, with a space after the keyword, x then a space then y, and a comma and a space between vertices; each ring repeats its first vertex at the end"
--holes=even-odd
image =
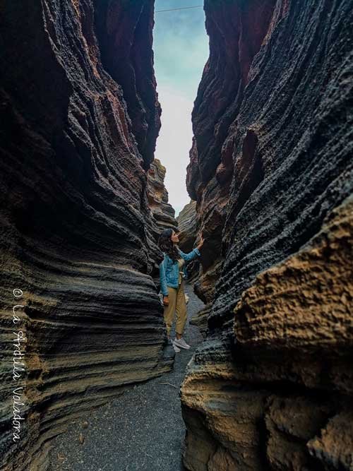
POLYGON ((168 203, 168 191, 164 186, 165 167, 160 160, 153 160, 148 170, 148 205, 153 217, 157 222, 158 232, 163 229, 172 227, 177 228, 177 220, 175 219, 175 210, 168 203))

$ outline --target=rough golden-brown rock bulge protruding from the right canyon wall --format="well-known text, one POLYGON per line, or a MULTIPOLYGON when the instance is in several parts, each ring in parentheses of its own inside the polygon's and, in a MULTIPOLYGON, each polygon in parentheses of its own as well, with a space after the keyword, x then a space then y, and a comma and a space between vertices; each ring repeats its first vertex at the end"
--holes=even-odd
POLYGON ((351 198, 305 249, 260 273, 243 293, 234 309, 239 347, 330 357, 343 348, 352 352, 352 247, 351 198))

